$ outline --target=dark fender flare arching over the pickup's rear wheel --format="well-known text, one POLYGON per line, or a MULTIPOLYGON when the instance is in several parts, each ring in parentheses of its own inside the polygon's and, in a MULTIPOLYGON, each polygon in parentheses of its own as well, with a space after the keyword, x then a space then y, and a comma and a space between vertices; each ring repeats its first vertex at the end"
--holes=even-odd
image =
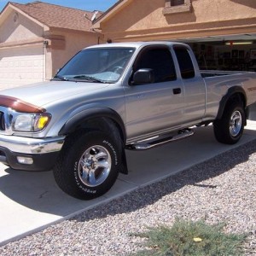
POLYGON ((219 102, 218 114, 217 114, 216 119, 221 119, 227 102, 229 102, 231 97, 236 94, 243 96, 243 99, 241 99, 241 100, 243 100, 243 102, 245 103, 244 106, 245 107, 247 106, 247 95, 246 95, 245 90, 241 86, 233 86, 227 91, 227 93, 223 96, 223 98, 219 102))

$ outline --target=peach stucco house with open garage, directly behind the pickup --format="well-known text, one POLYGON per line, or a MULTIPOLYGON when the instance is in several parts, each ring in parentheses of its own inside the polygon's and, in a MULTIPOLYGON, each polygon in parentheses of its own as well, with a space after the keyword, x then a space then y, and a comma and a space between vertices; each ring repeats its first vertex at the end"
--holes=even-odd
POLYGON ((188 43, 201 69, 256 71, 255 0, 119 0, 93 27, 108 42, 188 43))

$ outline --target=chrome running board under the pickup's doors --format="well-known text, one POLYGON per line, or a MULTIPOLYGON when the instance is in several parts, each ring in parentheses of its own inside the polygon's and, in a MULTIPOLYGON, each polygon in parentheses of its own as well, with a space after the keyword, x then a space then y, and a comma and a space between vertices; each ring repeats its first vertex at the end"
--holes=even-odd
POLYGON ((147 140, 132 143, 130 145, 127 145, 125 148, 129 150, 147 150, 150 148, 154 148, 160 145, 164 145, 166 143, 172 143, 177 140, 181 140, 185 137, 190 137, 194 135, 194 130, 192 129, 184 129, 177 132, 177 135, 174 136, 161 136, 161 137, 154 137, 149 138, 147 140), (150 142, 151 141, 151 142, 150 142))

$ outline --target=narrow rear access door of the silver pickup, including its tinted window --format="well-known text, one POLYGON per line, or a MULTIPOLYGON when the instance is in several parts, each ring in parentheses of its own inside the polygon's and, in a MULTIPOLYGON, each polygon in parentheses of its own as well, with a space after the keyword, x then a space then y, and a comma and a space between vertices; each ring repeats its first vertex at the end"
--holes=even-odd
POLYGON ((196 63, 195 55, 191 49, 183 45, 174 45, 173 47, 177 56, 177 63, 180 69, 180 75, 184 85, 184 114, 183 123, 201 122, 206 111, 206 86, 201 78, 199 68, 196 63), (191 57, 193 59, 191 59, 191 57), (196 72, 197 71, 197 72, 196 72))

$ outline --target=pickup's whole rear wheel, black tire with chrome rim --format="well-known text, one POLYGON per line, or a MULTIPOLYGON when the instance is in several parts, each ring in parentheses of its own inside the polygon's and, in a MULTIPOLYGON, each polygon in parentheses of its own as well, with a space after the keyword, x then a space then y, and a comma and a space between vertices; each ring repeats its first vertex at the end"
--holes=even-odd
POLYGON ((242 136, 245 111, 240 102, 228 102, 221 119, 213 123, 214 135, 219 143, 235 144, 242 136))

